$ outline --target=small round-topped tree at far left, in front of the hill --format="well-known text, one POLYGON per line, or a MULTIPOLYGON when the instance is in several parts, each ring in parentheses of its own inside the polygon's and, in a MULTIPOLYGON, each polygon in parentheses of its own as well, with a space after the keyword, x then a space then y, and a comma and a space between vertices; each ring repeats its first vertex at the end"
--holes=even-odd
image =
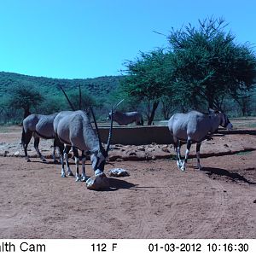
POLYGON ((36 108, 44 97, 33 88, 28 88, 25 85, 20 85, 11 89, 11 96, 9 97, 9 107, 15 109, 23 109, 23 118, 26 118, 31 112, 31 108, 36 108))

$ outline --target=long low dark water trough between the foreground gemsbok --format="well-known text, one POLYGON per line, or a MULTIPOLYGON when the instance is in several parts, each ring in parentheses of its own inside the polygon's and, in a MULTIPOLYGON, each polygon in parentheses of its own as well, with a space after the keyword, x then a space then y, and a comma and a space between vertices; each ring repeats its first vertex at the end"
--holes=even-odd
MULTIPOLYGON (((102 143, 108 141, 108 130, 99 127, 102 143)), ((172 137, 166 125, 148 126, 113 126, 113 137, 111 144, 143 145, 143 144, 170 144, 172 137)))

